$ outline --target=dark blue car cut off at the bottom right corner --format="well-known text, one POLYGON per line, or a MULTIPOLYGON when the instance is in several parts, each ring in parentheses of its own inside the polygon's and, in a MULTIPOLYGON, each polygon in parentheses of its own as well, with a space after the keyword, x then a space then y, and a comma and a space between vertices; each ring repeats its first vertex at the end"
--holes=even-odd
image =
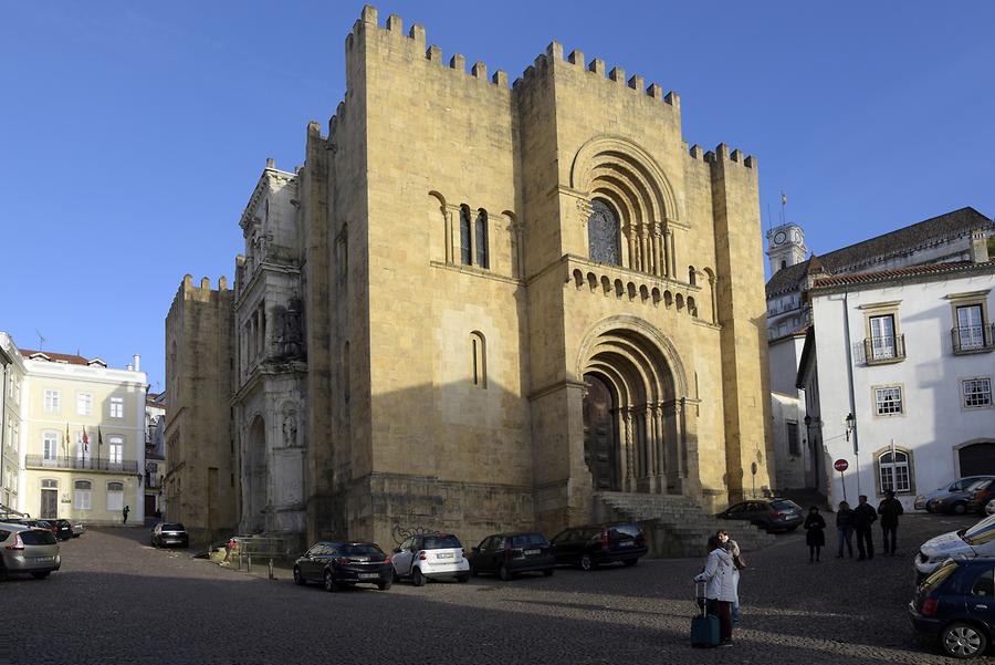
POLYGON ((920 584, 909 620, 947 656, 983 655, 995 630, 995 560, 947 559, 920 584))

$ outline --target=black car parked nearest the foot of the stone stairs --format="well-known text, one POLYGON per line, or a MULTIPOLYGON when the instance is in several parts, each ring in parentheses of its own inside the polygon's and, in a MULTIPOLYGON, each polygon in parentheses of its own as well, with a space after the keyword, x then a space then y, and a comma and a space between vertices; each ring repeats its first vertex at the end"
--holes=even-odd
POLYGON ((617 561, 636 565, 648 551, 646 536, 635 522, 572 527, 553 538, 556 563, 579 565, 583 570, 617 561))

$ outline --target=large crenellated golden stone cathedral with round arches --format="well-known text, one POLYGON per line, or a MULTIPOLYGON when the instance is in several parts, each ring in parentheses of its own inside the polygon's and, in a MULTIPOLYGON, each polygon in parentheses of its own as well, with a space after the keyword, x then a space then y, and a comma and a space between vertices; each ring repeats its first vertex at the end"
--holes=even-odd
POLYGON ((345 54, 327 131, 242 215, 228 328, 167 325, 230 382, 231 432, 176 437, 231 441, 238 529, 472 544, 771 488, 756 160, 556 42, 509 85, 366 7, 345 54))

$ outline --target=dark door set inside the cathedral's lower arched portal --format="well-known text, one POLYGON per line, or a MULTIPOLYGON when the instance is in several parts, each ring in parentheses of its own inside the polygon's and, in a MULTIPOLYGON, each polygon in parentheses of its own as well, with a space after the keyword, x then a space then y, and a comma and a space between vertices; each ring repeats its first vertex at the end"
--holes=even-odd
POLYGON ((618 411, 611 387, 596 374, 585 374, 584 460, 595 490, 619 490, 618 411))

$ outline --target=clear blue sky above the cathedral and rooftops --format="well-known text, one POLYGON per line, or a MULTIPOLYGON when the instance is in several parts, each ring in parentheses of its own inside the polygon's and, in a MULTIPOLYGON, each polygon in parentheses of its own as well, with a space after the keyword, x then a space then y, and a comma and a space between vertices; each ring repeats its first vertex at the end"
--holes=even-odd
MULTIPOLYGON (((0 330, 114 366, 139 353, 161 389, 182 276, 232 274, 265 158, 301 164, 307 122, 344 93, 362 3, 0 7, 0 330)), ((377 8, 510 79, 555 39, 677 91, 684 138, 755 155, 764 226, 783 188, 817 253, 963 206, 995 215, 995 3, 377 8)))

